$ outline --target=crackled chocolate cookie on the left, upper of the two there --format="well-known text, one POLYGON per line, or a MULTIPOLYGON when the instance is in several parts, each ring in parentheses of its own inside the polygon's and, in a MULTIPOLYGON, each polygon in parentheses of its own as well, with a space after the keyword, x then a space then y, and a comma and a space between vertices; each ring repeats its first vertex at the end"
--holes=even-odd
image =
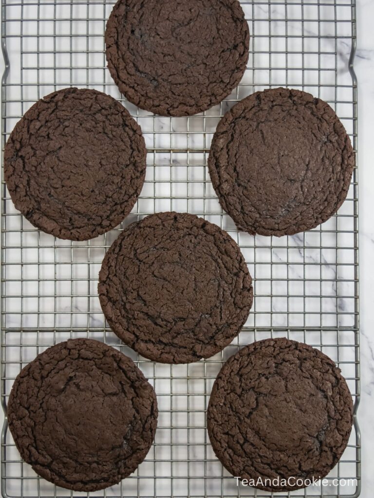
POLYGON ((140 126, 109 95, 65 88, 11 132, 4 178, 15 207, 47 234, 84 241, 129 214, 146 174, 140 126))

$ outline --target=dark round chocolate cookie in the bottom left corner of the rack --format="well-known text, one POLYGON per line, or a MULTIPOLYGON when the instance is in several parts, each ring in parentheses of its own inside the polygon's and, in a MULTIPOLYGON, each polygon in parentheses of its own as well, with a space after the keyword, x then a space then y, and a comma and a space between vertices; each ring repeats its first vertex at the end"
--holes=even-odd
POLYGON ((155 391, 130 358, 72 339, 18 374, 7 416, 21 457, 37 474, 88 492, 134 472, 152 445, 157 415, 155 391))

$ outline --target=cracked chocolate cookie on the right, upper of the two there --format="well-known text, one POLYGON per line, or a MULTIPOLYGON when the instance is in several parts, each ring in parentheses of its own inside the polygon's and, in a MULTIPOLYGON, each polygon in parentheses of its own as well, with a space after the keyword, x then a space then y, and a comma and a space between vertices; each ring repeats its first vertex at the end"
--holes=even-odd
POLYGON ((293 235, 328 220, 355 165, 331 107, 298 90, 257 92, 220 121, 209 173, 222 208, 252 235, 293 235))

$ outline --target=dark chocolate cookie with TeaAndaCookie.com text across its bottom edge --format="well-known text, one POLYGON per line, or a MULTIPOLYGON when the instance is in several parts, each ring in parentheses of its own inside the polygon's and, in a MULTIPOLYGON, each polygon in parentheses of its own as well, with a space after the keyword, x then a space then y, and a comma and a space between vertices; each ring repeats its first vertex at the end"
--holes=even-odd
POLYGON ((210 442, 223 466, 273 492, 325 477, 342 456, 352 423, 352 396, 335 363, 285 338, 232 356, 207 411, 210 442))

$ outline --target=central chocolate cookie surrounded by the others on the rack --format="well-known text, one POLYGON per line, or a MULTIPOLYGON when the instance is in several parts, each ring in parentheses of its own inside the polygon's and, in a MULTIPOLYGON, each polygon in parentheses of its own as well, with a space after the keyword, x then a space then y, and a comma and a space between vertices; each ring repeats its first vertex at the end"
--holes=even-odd
POLYGON ((221 351, 240 332, 253 298, 238 246, 189 214, 159 213, 130 225, 108 250, 99 280, 112 330, 161 363, 221 351))

